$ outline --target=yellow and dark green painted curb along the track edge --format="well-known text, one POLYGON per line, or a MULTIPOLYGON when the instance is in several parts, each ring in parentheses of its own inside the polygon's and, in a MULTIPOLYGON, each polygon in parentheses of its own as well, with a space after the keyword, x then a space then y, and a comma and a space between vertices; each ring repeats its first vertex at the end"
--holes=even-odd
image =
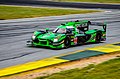
POLYGON ((38 60, 34 62, 28 62, 25 64, 3 68, 0 69, 0 77, 22 73, 30 70, 35 70, 38 68, 44 68, 51 65, 57 65, 60 63, 70 62, 82 58, 89 58, 93 56, 99 56, 99 55, 119 52, 119 51, 120 51, 120 43, 106 44, 104 46, 96 46, 93 48, 87 48, 85 50, 70 52, 69 54, 59 55, 55 57, 46 58, 43 60, 38 60))

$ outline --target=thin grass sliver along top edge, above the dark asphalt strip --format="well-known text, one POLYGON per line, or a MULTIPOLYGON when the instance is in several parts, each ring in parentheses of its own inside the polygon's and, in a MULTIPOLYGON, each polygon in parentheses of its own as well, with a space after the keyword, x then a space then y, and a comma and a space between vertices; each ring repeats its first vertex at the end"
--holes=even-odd
POLYGON ((120 0, 53 0, 67 2, 97 2, 97 3, 120 3, 120 0))

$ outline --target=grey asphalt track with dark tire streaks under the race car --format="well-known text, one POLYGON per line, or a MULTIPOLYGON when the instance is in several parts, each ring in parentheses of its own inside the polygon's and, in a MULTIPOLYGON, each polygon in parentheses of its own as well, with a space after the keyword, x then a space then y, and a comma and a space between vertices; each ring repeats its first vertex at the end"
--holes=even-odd
POLYGON ((120 42, 120 11, 111 10, 93 14, 76 14, 65 16, 50 16, 41 18, 0 20, 0 68, 41 60, 44 58, 66 54, 76 50, 120 42), (27 47, 26 41, 38 29, 56 28, 67 21, 90 20, 105 21, 107 27, 107 41, 97 44, 74 46, 68 49, 53 50, 49 48, 27 47))

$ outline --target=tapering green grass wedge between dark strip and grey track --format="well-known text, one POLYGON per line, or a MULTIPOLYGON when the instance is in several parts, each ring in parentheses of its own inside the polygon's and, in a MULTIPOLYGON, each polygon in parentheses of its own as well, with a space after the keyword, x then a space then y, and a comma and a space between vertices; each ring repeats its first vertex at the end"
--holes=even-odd
POLYGON ((60 9, 60 8, 33 8, 18 6, 0 6, 0 19, 34 18, 43 16, 59 16, 67 14, 82 14, 100 12, 96 10, 60 9))

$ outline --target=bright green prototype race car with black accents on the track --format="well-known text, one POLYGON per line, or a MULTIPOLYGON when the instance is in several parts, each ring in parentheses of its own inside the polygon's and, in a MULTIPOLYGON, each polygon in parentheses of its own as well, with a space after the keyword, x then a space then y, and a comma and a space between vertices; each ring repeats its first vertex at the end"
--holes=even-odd
POLYGON ((50 48, 68 48, 90 42, 106 40, 106 23, 83 21, 66 22, 54 31, 35 31, 28 46, 47 46, 50 48), (96 28, 97 27, 97 28, 96 28))

